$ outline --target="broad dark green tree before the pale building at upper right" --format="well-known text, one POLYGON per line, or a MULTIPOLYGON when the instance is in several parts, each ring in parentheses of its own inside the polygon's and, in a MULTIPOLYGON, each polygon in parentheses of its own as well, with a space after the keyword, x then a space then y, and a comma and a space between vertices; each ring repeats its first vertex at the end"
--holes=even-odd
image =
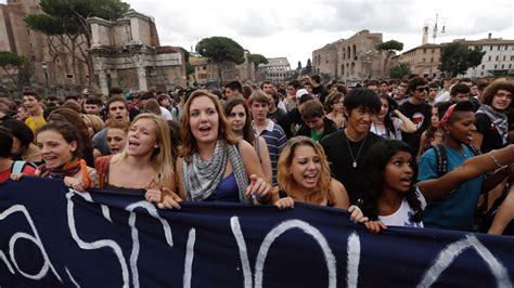
POLYGON ((439 70, 448 73, 451 77, 464 74, 468 68, 480 65, 486 52, 478 49, 470 50, 459 42, 446 44, 441 48, 439 70))

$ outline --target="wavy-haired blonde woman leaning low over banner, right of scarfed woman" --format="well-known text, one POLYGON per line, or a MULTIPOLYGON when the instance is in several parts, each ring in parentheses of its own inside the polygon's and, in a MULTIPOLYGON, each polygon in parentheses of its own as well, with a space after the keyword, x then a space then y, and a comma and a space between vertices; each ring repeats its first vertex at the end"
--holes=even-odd
POLYGON ((279 159, 278 179, 271 201, 280 209, 299 201, 348 209, 351 219, 368 221, 358 207, 350 207, 345 187, 330 175, 323 148, 310 138, 296 136, 287 142, 279 159))

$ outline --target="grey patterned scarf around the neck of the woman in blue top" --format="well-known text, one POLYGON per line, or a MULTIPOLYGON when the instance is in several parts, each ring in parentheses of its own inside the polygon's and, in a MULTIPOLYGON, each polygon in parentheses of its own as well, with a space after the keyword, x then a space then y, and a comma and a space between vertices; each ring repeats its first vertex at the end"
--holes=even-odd
POLYGON ((198 154, 184 158, 182 172, 185 199, 188 201, 207 199, 221 182, 228 160, 232 165, 241 202, 250 204, 245 194, 249 184, 248 178, 237 145, 229 145, 223 140, 216 143, 214 154, 207 161, 202 160, 198 154))

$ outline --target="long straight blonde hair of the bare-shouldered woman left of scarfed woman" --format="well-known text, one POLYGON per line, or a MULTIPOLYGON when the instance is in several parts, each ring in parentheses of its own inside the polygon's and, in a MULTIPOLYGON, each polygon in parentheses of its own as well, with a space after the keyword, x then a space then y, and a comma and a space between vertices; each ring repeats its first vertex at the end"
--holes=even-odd
MULTIPOLYGON (((158 148, 155 148, 154 152, 152 153, 151 162, 152 162, 153 169, 157 172, 155 182, 158 184, 163 184, 164 180, 175 178, 175 168, 174 168, 175 157, 171 153, 171 141, 169 138, 168 123, 160 116, 157 116, 151 113, 143 113, 143 114, 138 115, 138 117, 133 119, 132 123, 130 125, 130 128, 132 128, 132 126, 136 122, 138 122, 138 120, 140 119, 150 119, 155 125, 155 128, 156 128, 155 136, 156 136, 156 142, 158 144, 158 148)), ((127 147, 128 145, 125 146, 124 150, 120 154, 113 156, 113 162, 127 159, 128 157, 127 147)))

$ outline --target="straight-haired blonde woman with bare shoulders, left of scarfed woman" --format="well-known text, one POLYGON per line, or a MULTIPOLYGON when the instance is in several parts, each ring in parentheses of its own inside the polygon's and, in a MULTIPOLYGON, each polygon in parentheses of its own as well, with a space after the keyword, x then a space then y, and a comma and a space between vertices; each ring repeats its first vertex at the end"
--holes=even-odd
POLYGON ((130 125, 123 152, 97 159, 99 186, 146 194, 146 199, 159 202, 160 195, 176 189, 172 158, 166 120, 154 114, 140 114, 130 125))

